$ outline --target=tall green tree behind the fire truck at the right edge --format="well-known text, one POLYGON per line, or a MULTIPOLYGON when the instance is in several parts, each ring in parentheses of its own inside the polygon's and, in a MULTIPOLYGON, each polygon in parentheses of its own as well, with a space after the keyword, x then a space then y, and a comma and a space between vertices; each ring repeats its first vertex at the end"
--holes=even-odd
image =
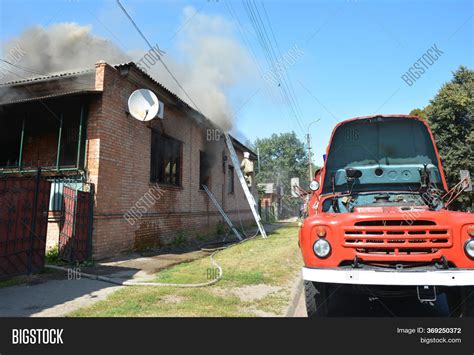
MULTIPOLYGON (((449 187, 459 182, 459 170, 474 173, 474 71, 460 66, 423 110, 436 139, 449 187)), ((472 207, 472 193, 462 194, 455 208, 472 207)))

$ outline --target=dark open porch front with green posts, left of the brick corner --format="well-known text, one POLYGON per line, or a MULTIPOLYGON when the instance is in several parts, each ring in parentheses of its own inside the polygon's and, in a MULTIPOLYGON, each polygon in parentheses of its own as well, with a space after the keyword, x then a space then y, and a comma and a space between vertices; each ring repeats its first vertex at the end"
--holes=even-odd
POLYGON ((87 99, 44 100, 0 111, 0 169, 28 172, 84 166, 87 99))

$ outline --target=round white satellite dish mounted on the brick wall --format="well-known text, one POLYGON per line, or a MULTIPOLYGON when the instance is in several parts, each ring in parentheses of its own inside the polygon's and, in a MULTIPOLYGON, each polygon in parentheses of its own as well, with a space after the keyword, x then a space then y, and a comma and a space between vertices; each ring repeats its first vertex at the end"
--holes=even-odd
POLYGON ((160 110, 162 105, 155 93, 147 89, 135 90, 128 98, 128 111, 142 122, 154 119, 159 111, 163 112, 163 108, 160 110))

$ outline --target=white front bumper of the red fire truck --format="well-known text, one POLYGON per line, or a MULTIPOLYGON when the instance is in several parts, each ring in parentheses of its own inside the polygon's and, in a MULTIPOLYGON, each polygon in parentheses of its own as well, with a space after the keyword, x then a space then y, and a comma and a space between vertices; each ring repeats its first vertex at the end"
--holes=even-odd
POLYGON ((305 281, 354 285, 473 286, 474 269, 424 268, 411 271, 367 267, 361 269, 303 267, 303 279, 305 281))

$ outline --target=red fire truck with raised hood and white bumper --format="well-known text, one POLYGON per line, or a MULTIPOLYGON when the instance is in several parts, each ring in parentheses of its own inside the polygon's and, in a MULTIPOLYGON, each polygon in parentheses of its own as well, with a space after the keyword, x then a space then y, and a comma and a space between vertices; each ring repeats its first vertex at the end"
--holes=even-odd
POLYGON ((407 115, 358 117, 333 130, 299 234, 308 316, 338 288, 434 302, 474 316, 474 214, 449 210, 472 190, 446 184, 433 135, 407 115))

